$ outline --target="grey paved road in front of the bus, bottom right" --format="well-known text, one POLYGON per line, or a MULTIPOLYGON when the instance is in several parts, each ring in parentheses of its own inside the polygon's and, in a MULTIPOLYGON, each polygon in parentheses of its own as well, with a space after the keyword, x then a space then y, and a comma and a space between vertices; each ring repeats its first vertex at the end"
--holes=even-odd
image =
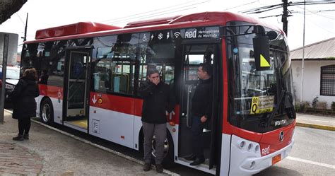
POLYGON ((335 131, 296 127, 290 156, 257 176, 334 175, 334 148, 335 131))

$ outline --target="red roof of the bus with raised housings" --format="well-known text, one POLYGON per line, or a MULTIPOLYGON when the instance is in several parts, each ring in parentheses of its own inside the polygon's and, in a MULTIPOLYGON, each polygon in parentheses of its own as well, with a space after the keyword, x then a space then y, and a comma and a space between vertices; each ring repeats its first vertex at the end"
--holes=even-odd
POLYGON ((170 18, 155 18, 152 20, 139 20, 128 23, 124 28, 101 23, 81 22, 70 25, 62 25, 54 28, 37 30, 35 40, 25 43, 47 42, 54 40, 69 40, 81 37, 97 37, 103 35, 116 35, 120 33, 136 33, 151 30, 163 30, 170 28, 189 28, 208 25, 225 25, 229 21, 244 21, 264 25, 273 30, 283 30, 275 25, 264 23, 257 18, 232 12, 201 12, 184 16, 172 16, 170 18))

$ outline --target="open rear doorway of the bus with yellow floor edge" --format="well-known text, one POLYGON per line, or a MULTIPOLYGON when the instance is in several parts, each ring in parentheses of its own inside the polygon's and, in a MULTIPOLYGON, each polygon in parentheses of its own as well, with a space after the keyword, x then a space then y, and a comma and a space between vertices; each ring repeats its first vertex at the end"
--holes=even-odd
POLYGON ((91 49, 66 49, 63 124, 88 132, 89 68, 91 49))

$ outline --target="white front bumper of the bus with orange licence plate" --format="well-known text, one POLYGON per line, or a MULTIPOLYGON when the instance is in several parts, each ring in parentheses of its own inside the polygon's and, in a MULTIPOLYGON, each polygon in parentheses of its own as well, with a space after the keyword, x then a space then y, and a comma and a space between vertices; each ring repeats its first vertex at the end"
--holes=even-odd
POLYGON ((259 143, 233 135, 229 175, 254 175, 261 172, 261 170, 273 165, 274 161, 278 162, 286 158, 293 148, 293 143, 294 135, 288 146, 269 155, 261 156, 259 143), (241 145, 242 142, 244 142, 244 145, 241 145))

